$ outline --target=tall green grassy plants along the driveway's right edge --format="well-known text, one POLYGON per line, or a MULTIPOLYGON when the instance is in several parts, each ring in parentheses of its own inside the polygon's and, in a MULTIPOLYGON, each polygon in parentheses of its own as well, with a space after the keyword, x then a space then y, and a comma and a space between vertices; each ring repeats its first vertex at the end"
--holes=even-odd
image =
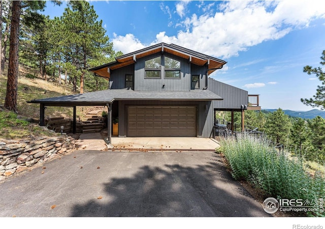
POLYGON ((263 190, 265 197, 314 201, 325 197, 322 174, 311 176, 302 158, 279 153, 266 139, 228 138, 221 141, 219 151, 228 161, 232 176, 254 184, 263 190))

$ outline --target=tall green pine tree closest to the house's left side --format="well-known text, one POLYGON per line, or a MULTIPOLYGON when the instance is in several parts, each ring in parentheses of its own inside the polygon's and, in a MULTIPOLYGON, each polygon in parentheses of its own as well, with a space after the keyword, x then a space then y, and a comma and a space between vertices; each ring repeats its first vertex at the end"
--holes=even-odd
MULTIPOLYGON (((66 38, 70 45, 72 64, 80 71, 80 93, 84 91, 84 79, 91 59, 112 55, 113 45, 109 42, 102 20, 97 21, 98 15, 93 6, 85 1, 71 1, 70 8, 66 8, 62 20, 66 28, 66 38)), ((76 78, 74 78, 76 83, 76 78)), ((76 87, 74 85, 74 91, 76 87)))

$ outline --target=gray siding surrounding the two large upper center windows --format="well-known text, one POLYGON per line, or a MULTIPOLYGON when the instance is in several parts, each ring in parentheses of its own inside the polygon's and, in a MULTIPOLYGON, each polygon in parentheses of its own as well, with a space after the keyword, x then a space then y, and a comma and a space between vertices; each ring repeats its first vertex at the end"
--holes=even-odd
MULTIPOLYGON (((155 53, 152 55, 140 58, 135 64, 135 91, 189 91, 190 90, 190 64, 187 60, 174 56, 172 54, 166 54, 166 56, 178 60, 181 62, 181 77, 164 78, 164 70, 161 71, 160 79, 148 79, 145 78, 145 61, 160 56, 161 53, 155 53), (165 87, 163 89, 163 85, 165 87)), ((162 59, 161 65, 164 65, 162 59)))

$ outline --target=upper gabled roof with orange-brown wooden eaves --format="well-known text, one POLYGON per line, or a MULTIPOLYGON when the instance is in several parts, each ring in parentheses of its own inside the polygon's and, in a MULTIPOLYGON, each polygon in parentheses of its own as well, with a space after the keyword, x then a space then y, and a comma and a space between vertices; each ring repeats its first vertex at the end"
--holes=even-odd
POLYGON ((93 72, 97 76, 101 76, 104 78, 110 77, 110 70, 114 70, 117 68, 121 68, 127 65, 131 65, 136 63, 137 59, 143 58, 144 56, 158 53, 158 52, 166 52, 171 53, 177 56, 180 56, 181 58, 187 59, 190 63, 203 66, 208 64, 208 69, 211 69, 208 71, 208 74, 211 74, 216 70, 216 68, 220 68, 224 64, 226 64, 225 61, 222 61, 220 59, 214 58, 213 56, 205 55, 200 52, 196 52, 187 48, 183 48, 181 46, 175 45, 175 44, 166 44, 166 43, 160 43, 156 45, 152 45, 143 49, 140 49, 135 52, 131 52, 125 55, 118 56, 115 58, 114 62, 101 65, 95 68, 89 69, 89 71, 93 72))

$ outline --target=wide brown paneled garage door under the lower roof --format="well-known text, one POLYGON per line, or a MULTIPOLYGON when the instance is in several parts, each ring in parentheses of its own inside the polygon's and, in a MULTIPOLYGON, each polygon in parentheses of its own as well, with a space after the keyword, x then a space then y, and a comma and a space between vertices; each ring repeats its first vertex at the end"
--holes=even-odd
POLYGON ((127 136, 197 136, 194 106, 129 106, 127 136))

